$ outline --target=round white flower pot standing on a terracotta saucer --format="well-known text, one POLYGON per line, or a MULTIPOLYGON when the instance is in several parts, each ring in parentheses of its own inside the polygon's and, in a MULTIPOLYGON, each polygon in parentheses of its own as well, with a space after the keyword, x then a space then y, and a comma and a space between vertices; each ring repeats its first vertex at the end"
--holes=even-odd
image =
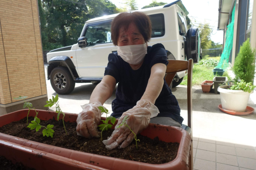
POLYGON ((244 92, 242 90, 230 90, 225 89, 232 85, 222 85, 218 87, 218 91, 221 94, 222 108, 228 111, 244 112, 246 110, 248 100, 251 93, 244 92))

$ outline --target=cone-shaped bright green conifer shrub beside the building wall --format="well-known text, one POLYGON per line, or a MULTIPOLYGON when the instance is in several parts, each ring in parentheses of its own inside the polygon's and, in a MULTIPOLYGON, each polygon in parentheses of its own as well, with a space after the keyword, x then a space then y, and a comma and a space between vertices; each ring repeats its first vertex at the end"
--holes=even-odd
POLYGON ((233 72, 236 82, 240 82, 240 80, 244 80, 246 83, 253 82, 255 55, 256 50, 251 48, 250 39, 247 39, 240 47, 234 63, 233 72))

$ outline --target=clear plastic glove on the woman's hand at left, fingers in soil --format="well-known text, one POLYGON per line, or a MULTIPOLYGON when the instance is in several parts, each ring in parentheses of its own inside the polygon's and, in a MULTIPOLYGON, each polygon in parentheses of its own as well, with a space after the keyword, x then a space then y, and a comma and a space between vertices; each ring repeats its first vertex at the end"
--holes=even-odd
POLYGON ((79 113, 76 119, 76 133, 79 136, 84 136, 85 138, 90 139, 91 137, 99 137, 100 132, 97 130, 100 118, 101 111, 99 106, 102 106, 100 102, 90 103, 81 106, 83 111, 79 113))

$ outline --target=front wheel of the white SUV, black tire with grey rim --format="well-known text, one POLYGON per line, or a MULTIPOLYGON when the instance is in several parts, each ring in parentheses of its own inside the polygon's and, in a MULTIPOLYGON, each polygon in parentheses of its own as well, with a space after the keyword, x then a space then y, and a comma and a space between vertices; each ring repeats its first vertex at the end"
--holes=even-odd
POLYGON ((67 67, 54 68, 50 75, 50 81, 57 94, 70 94, 76 85, 67 67))

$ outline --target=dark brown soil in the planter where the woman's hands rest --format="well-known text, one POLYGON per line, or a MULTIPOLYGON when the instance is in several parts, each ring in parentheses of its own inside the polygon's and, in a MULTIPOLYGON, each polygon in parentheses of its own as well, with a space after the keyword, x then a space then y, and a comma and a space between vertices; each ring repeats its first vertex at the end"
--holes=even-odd
MULTIPOLYGON (((33 119, 33 117, 29 117, 29 122, 33 119)), ((166 143, 159 141, 158 137, 152 140, 146 136, 137 135, 137 139, 140 139, 138 149, 136 149, 136 143, 135 140, 133 140, 133 142, 124 149, 116 148, 108 150, 105 148, 100 138, 86 139, 82 136, 78 136, 76 134, 76 122, 65 122, 67 135, 65 134, 62 120, 55 121, 53 118, 47 121, 41 120, 40 123, 40 125, 45 127, 49 124, 54 125, 52 128, 55 131, 53 138, 43 136, 42 130, 44 130, 44 127, 38 132, 30 130, 26 127, 26 118, 0 127, 0 133, 67 149, 150 164, 164 164, 174 160, 179 147, 179 143, 177 142, 166 143)), ((111 136, 112 132, 113 130, 104 131, 102 133, 103 140, 111 136)))

